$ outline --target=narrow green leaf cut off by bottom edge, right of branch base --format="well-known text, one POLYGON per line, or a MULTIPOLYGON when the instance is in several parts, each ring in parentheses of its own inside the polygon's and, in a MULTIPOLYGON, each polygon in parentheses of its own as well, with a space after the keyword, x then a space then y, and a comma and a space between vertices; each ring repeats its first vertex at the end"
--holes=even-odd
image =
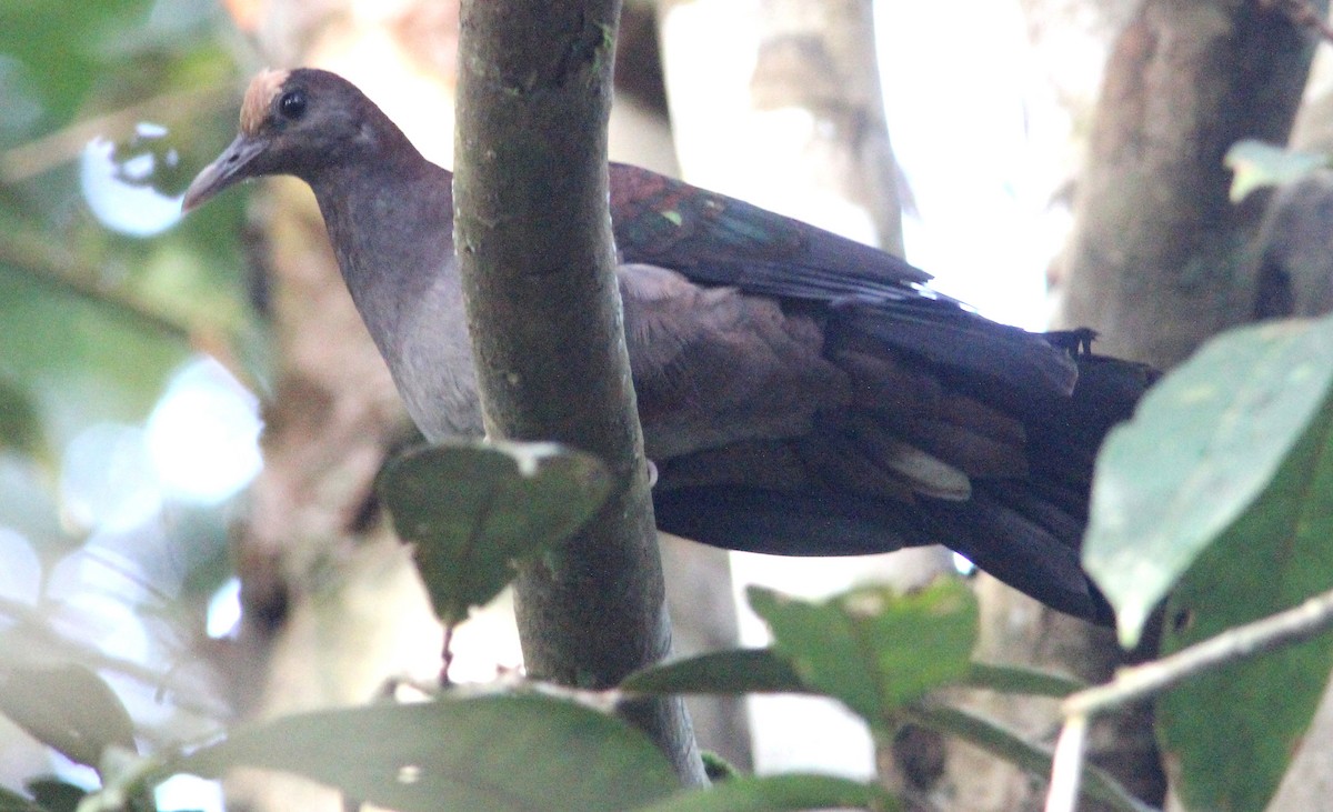
POLYGON ((900 809, 898 800, 874 787, 821 775, 741 776, 705 789, 690 789, 636 812, 782 812, 784 809, 900 809))

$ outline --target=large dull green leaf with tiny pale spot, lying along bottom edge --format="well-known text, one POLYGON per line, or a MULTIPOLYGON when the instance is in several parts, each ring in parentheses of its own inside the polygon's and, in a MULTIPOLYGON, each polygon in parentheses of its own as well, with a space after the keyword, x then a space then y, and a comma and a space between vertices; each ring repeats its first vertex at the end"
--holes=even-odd
POLYGON ((665 756, 621 721, 539 695, 284 716, 184 761, 299 773, 397 812, 619 812, 677 791, 665 756))

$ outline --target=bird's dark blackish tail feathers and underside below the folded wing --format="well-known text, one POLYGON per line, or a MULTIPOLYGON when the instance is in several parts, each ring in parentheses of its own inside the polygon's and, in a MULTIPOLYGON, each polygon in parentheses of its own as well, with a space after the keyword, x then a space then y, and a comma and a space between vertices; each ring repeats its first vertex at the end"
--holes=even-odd
POLYGON ((702 464, 666 471, 655 497, 659 524, 776 555, 944 544, 1048 605, 1109 623, 1080 565, 1093 461, 1156 373, 1085 345, 1070 355, 1072 395, 1033 396, 873 345, 833 348, 856 381, 850 407, 821 415, 801 439, 720 452, 744 459, 704 455, 702 464), (726 473, 756 469, 769 479, 726 473))

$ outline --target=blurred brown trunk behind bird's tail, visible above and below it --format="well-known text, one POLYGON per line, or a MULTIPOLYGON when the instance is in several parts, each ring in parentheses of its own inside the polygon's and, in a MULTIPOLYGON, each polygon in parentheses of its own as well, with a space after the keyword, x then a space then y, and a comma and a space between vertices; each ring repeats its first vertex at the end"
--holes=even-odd
MULTIPOLYGON (((1093 327, 1098 352, 1168 368, 1214 332, 1254 317, 1256 277, 1245 267, 1258 208, 1228 201, 1222 155, 1238 139, 1286 139, 1312 45, 1309 32, 1258 3, 1138 7, 1108 61, 1077 181, 1060 325, 1093 327)), ((1098 681, 1124 661, 1113 635, 1004 592, 989 601, 1004 620, 986 624, 984 655, 1028 653, 1098 681)), ((1029 731, 1054 732, 1049 704, 988 705, 1029 731)), ((1092 755, 1160 803, 1165 783, 1150 723, 1146 708, 1104 720, 1092 755)), ((986 809, 1041 808, 1040 788, 1025 779, 972 775, 1008 785, 986 809)))

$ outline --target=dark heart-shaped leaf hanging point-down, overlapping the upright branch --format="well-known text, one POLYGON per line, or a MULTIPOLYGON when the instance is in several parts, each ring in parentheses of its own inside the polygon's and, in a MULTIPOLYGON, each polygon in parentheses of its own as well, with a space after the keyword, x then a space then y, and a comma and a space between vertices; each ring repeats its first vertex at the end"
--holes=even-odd
POLYGON ((607 500, 600 460, 551 443, 465 441, 393 460, 380 495, 445 624, 513 580, 513 561, 579 531, 607 500))

